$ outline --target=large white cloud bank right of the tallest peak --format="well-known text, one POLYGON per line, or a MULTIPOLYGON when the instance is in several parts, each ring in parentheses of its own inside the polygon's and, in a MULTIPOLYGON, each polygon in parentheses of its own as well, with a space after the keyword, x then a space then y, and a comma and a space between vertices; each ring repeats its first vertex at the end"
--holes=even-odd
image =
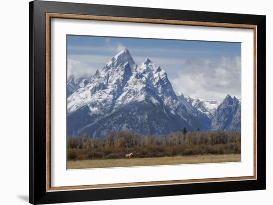
POLYGON ((241 98, 240 57, 189 59, 181 67, 170 79, 176 92, 208 100, 222 100, 227 94, 241 98))

